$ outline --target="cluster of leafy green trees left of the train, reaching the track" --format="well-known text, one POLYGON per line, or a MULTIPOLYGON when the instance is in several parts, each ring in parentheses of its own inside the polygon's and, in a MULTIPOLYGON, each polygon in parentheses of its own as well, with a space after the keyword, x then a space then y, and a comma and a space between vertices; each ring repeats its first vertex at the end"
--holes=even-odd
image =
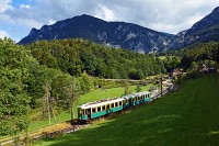
POLYGON ((28 125, 31 108, 43 106, 45 87, 57 105, 67 105, 72 77, 42 66, 10 38, 0 40, 0 135, 14 135, 28 125), (54 97, 54 98, 53 98, 54 97))

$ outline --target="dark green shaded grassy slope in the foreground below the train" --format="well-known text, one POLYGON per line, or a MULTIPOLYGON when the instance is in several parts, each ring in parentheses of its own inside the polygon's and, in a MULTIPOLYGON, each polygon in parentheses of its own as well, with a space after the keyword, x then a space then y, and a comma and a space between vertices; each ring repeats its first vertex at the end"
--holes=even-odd
POLYGON ((184 82, 176 92, 116 119, 38 145, 219 145, 219 85, 184 82))

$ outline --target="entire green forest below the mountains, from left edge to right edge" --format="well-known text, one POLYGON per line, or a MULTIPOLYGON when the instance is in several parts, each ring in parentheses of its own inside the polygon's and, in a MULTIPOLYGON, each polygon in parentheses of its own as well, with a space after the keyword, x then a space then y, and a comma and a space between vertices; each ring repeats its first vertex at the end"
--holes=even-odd
POLYGON ((158 54, 108 48, 82 38, 22 46, 5 37, 0 40, 0 136, 26 130, 30 112, 44 109, 48 96, 56 110, 68 110, 72 93, 124 83, 100 79, 139 80, 218 57, 217 43, 191 46, 161 59, 158 54))

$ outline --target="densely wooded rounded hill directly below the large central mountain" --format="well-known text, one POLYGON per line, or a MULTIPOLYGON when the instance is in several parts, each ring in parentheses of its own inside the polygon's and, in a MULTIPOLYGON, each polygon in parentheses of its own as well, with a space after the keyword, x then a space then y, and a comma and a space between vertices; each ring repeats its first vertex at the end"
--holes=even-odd
POLYGON ((142 79, 166 71, 163 63, 152 54, 108 48, 81 38, 41 41, 26 48, 41 65, 76 77, 85 70, 100 78, 142 79))

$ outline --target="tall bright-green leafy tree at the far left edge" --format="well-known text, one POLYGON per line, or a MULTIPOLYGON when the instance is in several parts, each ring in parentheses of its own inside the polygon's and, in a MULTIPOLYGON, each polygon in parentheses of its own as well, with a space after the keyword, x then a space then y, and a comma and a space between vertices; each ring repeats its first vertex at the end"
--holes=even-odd
POLYGON ((0 40, 0 135, 14 135, 28 125, 30 97, 25 80, 32 56, 10 38, 0 40))

